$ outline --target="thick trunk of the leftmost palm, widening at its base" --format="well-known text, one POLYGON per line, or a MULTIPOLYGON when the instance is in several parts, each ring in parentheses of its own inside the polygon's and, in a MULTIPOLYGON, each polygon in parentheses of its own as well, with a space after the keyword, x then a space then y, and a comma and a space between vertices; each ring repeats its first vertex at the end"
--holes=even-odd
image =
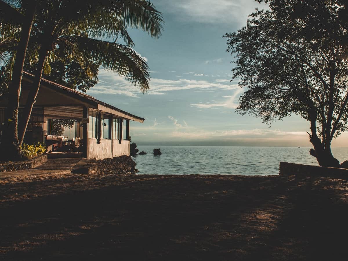
POLYGON ((29 5, 22 25, 16 58, 13 66, 12 81, 9 84, 8 104, 5 111, 5 124, 0 144, 1 160, 18 160, 23 158, 21 144, 18 142, 18 107, 21 96, 22 74, 26 50, 34 21, 37 1, 29 5))

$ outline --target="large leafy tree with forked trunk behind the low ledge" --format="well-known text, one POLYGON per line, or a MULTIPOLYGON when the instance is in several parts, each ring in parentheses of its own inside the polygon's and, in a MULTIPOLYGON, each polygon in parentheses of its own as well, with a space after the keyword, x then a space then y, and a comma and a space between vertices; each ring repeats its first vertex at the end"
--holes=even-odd
MULTIPOLYGON (((331 22, 340 19, 338 7, 327 4, 326 10, 331 22)), ((348 62, 343 44, 347 29, 336 25, 337 40, 329 33, 316 36, 320 26, 308 36, 302 31, 306 19, 283 18, 280 22, 273 10, 256 10, 243 29, 226 34, 227 50, 235 54, 233 78, 247 87, 237 111, 267 124, 300 115, 310 122, 308 134, 314 147, 310 154, 320 166, 338 167, 331 141, 347 130, 348 62)))

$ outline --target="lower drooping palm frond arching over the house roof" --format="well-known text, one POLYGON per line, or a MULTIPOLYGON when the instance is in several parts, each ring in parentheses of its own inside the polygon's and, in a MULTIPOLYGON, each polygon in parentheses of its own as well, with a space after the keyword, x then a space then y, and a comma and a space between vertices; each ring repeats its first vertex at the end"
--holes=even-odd
POLYGON ((92 57, 102 68, 117 72, 142 92, 149 89, 149 67, 133 49, 88 37, 73 37, 71 41, 76 44, 76 54, 92 57))

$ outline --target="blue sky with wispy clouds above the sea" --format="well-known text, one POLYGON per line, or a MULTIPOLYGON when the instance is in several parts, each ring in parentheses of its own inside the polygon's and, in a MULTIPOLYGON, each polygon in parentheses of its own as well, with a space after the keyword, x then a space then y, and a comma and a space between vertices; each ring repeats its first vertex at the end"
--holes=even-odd
MULTIPOLYGON (((138 145, 227 145, 311 147, 309 123, 299 116, 271 126, 235 108, 245 91, 232 81, 233 56, 227 32, 246 24, 248 14, 267 5, 254 0, 152 0, 163 13, 158 40, 129 29, 135 50, 148 62, 150 90, 142 94, 117 73, 100 69, 87 94, 145 118, 130 123, 138 145)), ((332 142, 348 147, 348 135, 332 142)))

